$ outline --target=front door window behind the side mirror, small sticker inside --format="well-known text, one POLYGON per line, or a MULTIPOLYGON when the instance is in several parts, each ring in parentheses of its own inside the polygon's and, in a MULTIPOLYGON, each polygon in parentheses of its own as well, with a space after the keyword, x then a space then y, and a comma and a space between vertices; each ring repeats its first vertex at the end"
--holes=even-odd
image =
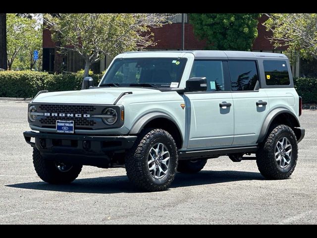
POLYGON ((224 91, 222 61, 195 60, 190 77, 206 77, 207 91, 224 91))

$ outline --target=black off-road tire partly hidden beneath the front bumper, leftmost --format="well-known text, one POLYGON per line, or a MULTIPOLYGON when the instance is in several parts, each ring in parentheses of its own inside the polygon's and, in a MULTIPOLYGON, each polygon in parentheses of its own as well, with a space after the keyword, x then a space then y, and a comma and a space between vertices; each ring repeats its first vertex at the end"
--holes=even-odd
POLYGON ((43 181, 53 184, 72 182, 78 177, 83 167, 82 165, 73 165, 69 171, 61 172, 57 169, 55 161, 45 160, 36 148, 33 148, 33 165, 43 181))

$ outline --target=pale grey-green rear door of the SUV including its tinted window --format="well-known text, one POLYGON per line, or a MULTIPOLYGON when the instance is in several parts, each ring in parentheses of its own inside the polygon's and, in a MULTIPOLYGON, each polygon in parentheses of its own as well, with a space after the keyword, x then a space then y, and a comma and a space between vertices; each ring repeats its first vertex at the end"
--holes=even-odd
POLYGON ((228 65, 234 104, 232 145, 255 144, 269 113, 265 89, 254 90, 260 83, 257 60, 229 60, 228 65))

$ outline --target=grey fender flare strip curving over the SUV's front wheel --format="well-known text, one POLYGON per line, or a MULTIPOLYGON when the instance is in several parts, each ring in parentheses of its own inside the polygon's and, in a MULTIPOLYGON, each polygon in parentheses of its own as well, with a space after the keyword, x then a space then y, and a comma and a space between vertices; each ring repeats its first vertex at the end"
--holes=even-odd
MULTIPOLYGON (((159 113, 159 112, 149 113, 149 114, 141 117, 140 119, 138 119, 137 122, 135 122, 134 125, 132 126, 129 134, 139 134, 148 122, 150 122, 153 119, 157 119, 157 118, 165 118, 165 119, 169 119, 170 121, 172 121, 177 126, 177 129, 180 133, 180 136, 183 137, 181 130, 180 130, 178 124, 176 123, 176 121, 172 117, 170 117, 164 113, 159 113)), ((183 138, 181 138, 181 139, 183 140, 183 138)))

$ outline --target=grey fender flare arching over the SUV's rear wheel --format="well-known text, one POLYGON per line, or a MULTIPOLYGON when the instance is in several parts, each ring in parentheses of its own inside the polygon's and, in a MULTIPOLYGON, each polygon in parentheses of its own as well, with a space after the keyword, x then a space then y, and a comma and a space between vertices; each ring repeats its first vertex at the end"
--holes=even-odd
POLYGON ((296 115, 294 113, 292 113, 291 111, 285 109, 285 108, 276 108, 274 110, 272 110, 264 119, 260 134, 259 134, 259 138, 257 143, 261 143, 264 140, 265 135, 267 134, 268 128, 271 125, 272 121, 280 114, 282 113, 287 113, 290 114, 293 118, 296 119, 297 124, 294 125, 294 127, 300 127, 300 123, 298 118, 296 117, 296 115))

